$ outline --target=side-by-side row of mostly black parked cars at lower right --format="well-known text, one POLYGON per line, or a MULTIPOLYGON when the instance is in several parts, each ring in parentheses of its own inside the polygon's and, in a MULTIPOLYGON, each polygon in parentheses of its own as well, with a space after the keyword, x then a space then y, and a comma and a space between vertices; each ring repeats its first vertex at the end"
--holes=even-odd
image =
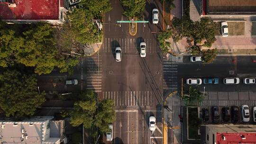
MULTIPOLYGON (((242 105, 242 119, 243 122, 250 121, 250 110, 247 105, 242 105)), ((220 116, 219 116, 219 108, 214 106, 211 108, 212 110, 212 122, 213 123, 219 123, 220 116)), ((222 120, 223 122, 229 122, 231 117, 232 123, 237 123, 239 121, 239 107, 238 106, 232 106, 231 111, 229 107, 223 107, 221 109, 222 111, 222 120)), ((209 121, 209 110, 208 108, 202 108, 202 119, 203 121, 207 122, 209 121)), ((256 107, 253 107, 253 121, 256 122, 256 107)))

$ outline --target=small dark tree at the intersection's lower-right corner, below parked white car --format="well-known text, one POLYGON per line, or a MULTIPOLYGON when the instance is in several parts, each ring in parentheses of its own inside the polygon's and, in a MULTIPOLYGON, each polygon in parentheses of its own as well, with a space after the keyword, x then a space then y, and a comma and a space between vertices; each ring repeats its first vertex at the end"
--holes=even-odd
POLYGON ((196 88, 190 86, 188 90, 184 90, 183 97, 181 98, 186 105, 196 105, 203 101, 204 95, 196 88))

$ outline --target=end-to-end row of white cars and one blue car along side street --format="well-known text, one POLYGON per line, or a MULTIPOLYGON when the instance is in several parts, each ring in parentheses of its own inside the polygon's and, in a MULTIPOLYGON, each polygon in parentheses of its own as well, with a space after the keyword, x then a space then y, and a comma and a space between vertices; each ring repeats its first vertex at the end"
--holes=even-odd
MULTIPOLYGON (((203 81, 200 78, 190 78, 187 79, 187 84, 189 85, 200 85, 202 84, 219 84, 219 78, 204 78, 203 81)), ((238 84, 240 82, 239 78, 224 78, 224 84, 238 84)), ((256 84, 256 77, 244 78, 244 84, 256 84)))

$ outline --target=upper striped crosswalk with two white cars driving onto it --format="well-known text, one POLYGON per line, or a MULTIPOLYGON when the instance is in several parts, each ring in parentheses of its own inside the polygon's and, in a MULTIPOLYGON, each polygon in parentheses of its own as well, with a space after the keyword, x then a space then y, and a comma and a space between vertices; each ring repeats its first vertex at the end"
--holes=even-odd
POLYGON ((103 39, 103 46, 101 47, 101 53, 112 53, 116 47, 121 47, 122 53, 139 53, 138 47, 140 42, 146 43, 146 53, 156 54, 160 52, 157 46, 157 41, 152 38, 107 38, 103 39))

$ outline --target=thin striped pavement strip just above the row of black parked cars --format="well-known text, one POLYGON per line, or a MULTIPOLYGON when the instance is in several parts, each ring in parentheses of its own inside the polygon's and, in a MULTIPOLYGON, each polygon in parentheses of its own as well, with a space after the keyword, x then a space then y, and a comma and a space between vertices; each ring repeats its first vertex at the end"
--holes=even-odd
POLYGON ((199 106, 256 106, 256 100, 203 100, 199 106))

